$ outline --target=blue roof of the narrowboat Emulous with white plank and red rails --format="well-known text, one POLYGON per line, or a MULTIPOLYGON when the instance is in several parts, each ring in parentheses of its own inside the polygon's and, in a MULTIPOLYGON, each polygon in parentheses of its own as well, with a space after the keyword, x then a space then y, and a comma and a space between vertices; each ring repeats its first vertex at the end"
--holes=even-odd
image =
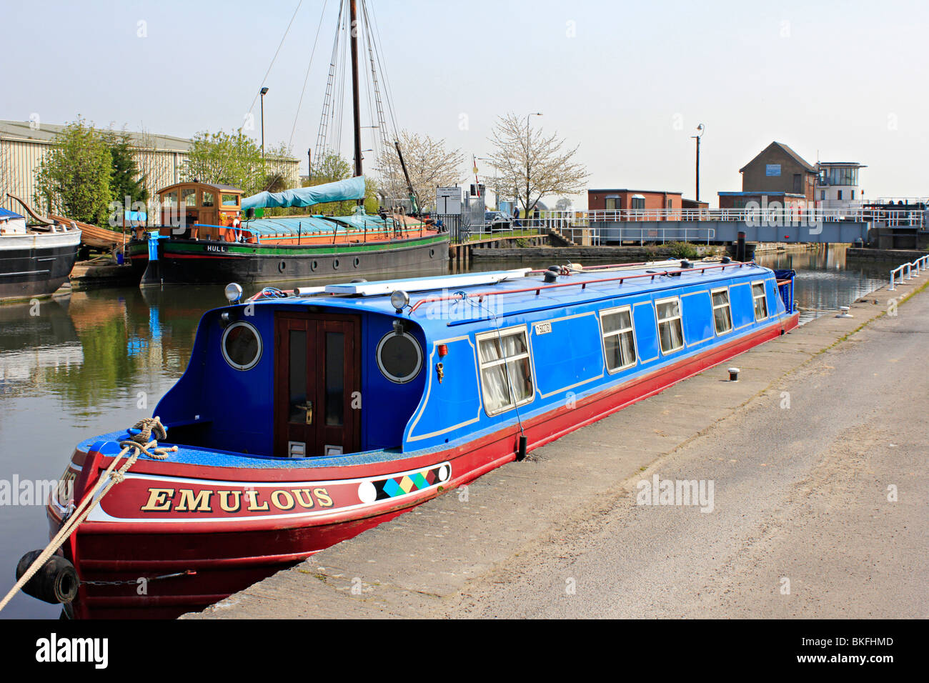
MULTIPOLYGON (((562 270, 562 272, 565 272, 562 270)), ((771 270, 756 263, 697 261, 681 268, 681 261, 660 261, 630 266, 601 267, 559 275, 556 282, 544 281, 544 270, 494 270, 432 278, 349 282, 317 287, 301 287, 285 298, 258 296, 255 304, 363 309, 390 316, 402 316, 426 326, 449 319, 478 321, 504 317, 536 309, 570 307, 588 301, 616 296, 635 296, 681 286, 707 286, 733 277, 763 277, 771 270), (680 275, 678 276, 678 273, 680 275), (410 304, 401 314, 390 302, 390 294, 402 290, 410 304), (493 305, 488 306, 491 301, 493 305), (431 306, 430 306, 431 305, 431 306), (443 307, 440 315, 436 306, 443 307), (462 307, 456 315, 452 307, 462 307), (466 308, 465 308, 466 307, 466 308), (474 310, 477 308, 478 310, 474 310), (466 315, 464 312, 466 311, 466 315)))

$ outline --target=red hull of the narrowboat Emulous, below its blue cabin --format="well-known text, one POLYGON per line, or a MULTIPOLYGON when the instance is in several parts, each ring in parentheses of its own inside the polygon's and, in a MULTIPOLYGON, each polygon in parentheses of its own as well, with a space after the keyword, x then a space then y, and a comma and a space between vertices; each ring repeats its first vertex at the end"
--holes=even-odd
MULTIPOLYGON (((797 322, 798 314, 794 314, 725 346, 708 349, 699 356, 665 366, 621 387, 604 390, 578 401, 573 408, 562 406, 547 414, 524 420, 523 429, 529 449, 556 440, 748 348, 782 335, 796 327, 797 322)), ((461 486, 514 460, 518 434, 519 429, 514 425, 454 449, 360 466, 243 470, 139 460, 131 470, 138 478, 126 479, 115 487, 103 500, 100 506, 103 510, 98 518, 92 515, 85 521, 64 548, 66 557, 74 563, 82 582, 128 583, 83 583, 78 598, 70 608, 72 615, 77 618, 171 618, 187 611, 203 609, 275 571, 352 538, 420 505, 438 493, 461 486), (390 477, 395 473, 412 473, 418 469, 425 472, 430 467, 436 472, 444 466, 450 467, 449 471, 439 475, 440 479, 431 482, 422 491, 404 493, 396 499, 369 501, 367 505, 339 505, 338 496, 343 489, 360 491, 360 486, 367 485, 359 484, 359 478, 390 477), (173 511, 157 512, 153 518, 138 520, 121 520, 124 518, 113 516, 114 511, 125 509, 134 509, 138 515, 138 499, 131 505, 128 499, 132 493, 138 493, 140 487, 157 483, 159 477, 193 481, 195 483, 191 486, 194 487, 212 485, 214 488, 209 489, 210 492, 215 490, 216 483, 229 487, 238 483, 246 487, 246 491, 257 490, 257 493, 252 493, 255 507, 248 508, 249 511, 254 509, 255 513, 232 519, 220 514, 213 506, 199 517, 173 511), (328 488, 313 489, 315 484, 307 484, 308 480, 324 482, 328 488), (232 483, 226 484, 227 481, 232 483), (250 482, 254 482, 254 486, 250 482), (280 488, 294 485, 307 488, 280 488), (303 510, 305 514, 261 514, 268 509, 263 507, 267 505, 268 492, 278 503, 283 501, 285 504, 293 504, 298 491, 307 492, 309 506, 304 506, 307 508, 303 510), (316 499, 316 506, 313 506, 310 491, 323 492, 321 498, 316 499), (259 500, 262 501, 261 506, 257 503, 259 500), (327 500, 329 506, 325 506, 327 500), (147 584, 137 582, 139 577, 176 572, 195 573, 150 580, 147 584), (145 593, 140 595, 143 585, 145 593)), ((89 489, 88 484, 98 479, 99 471, 111 460, 99 453, 76 452, 72 462, 75 469, 81 470, 75 483, 75 492, 80 496, 89 489)), ((396 476, 399 478, 399 475, 396 476)), ((148 489, 149 492, 167 490, 174 495, 174 489, 148 489)), ((202 489, 191 489, 191 492, 202 493, 202 489)), ((148 509, 161 505, 163 499, 166 500, 165 496, 163 494, 159 497, 152 493, 147 503, 148 509)), ((207 497, 206 500, 211 499, 207 497)), ((226 500, 228 502, 229 498, 226 500)), ((191 502, 194 502, 192 497, 188 500, 189 504, 191 502)), ((196 506, 189 507, 197 511, 196 506)), ((284 506, 281 509, 293 510, 295 507, 298 506, 284 506)), ((147 508, 143 506, 141 509, 147 508)), ((179 509, 176 505, 175 510, 179 509)), ((55 506, 49 506, 48 511, 51 528, 53 532, 57 531, 59 512, 55 506)), ((242 512, 245 511, 242 508, 242 512)))

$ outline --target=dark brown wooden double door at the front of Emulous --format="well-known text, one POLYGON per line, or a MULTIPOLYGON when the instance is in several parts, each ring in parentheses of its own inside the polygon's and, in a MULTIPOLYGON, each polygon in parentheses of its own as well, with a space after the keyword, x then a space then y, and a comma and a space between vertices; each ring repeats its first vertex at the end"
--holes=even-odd
POLYGON ((275 331, 274 454, 360 449, 360 320, 279 313, 275 331))

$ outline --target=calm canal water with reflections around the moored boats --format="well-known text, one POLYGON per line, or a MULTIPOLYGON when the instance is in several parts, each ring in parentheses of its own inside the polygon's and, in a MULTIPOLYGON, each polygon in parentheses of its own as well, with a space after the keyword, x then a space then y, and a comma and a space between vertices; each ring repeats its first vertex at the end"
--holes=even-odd
MULTIPOLYGON (((841 247, 758 260, 797 271, 804 322, 881 286, 889 271, 846 263, 841 247)), ((102 289, 0 306, 0 596, 14 584, 19 558, 48 541, 44 495, 34 492, 59 478, 79 441, 150 416, 187 367, 203 311, 225 303, 221 286, 204 286, 102 289)), ((0 617, 59 613, 20 594, 0 617)))

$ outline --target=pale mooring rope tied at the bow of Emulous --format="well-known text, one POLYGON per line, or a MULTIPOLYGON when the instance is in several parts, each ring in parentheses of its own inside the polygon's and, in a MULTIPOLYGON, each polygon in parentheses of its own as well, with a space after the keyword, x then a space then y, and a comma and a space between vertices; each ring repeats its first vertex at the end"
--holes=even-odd
POLYGON ((77 527, 87 518, 87 515, 90 514, 94 506, 98 504, 103 496, 109 493, 110 489, 115 484, 125 479, 124 475, 126 470, 135 464, 141 453, 145 453, 156 460, 164 460, 164 458, 168 456, 168 453, 177 451, 177 446, 171 446, 170 448, 161 448, 158 446, 159 439, 164 440, 167 438, 167 429, 164 428, 162 421, 158 417, 142 418, 133 425, 129 433, 131 436, 128 439, 119 442, 123 450, 113 457, 110 466, 107 467, 106 471, 98 479, 94 491, 90 495, 85 495, 81 505, 74 508, 71 516, 64 520, 59 532, 56 533, 55 537, 46 545, 46 549, 42 551, 38 558, 35 558, 29 569, 26 570, 22 576, 20 576, 20 580, 9 589, 9 592, 3 600, 0 600, 0 611, 3 611, 3 609, 7 607, 7 603, 13 599, 13 596, 20 592, 22 586, 29 583, 29 580, 33 578, 35 572, 39 571, 43 565, 45 565, 48 558, 51 558, 58 552, 59 547, 64 545, 68 537, 77 530, 77 527), (132 434, 132 432, 136 430, 137 434, 132 434), (154 439, 151 438, 152 434, 155 435, 154 439), (119 461, 122 460, 129 451, 133 452, 132 455, 126 459, 123 466, 113 472, 119 461))

